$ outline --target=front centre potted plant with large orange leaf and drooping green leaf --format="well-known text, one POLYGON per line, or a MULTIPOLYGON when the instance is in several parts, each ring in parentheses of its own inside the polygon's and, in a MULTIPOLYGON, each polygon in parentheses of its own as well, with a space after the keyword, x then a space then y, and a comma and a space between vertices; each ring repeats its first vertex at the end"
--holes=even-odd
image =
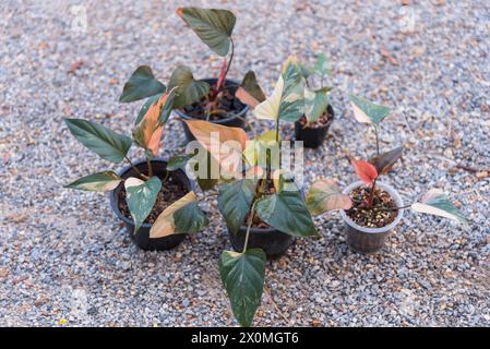
POLYGON ((301 191, 282 169, 283 147, 290 143, 279 149, 279 120, 302 113, 300 77, 298 65, 288 60, 273 95, 254 109, 258 117, 274 120, 275 130, 253 140, 238 128, 184 120, 219 166, 218 206, 234 248, 222 253, 219 274, 232 312, 243 326, 251 325, 260 306, 266 257, 285 253, 295 238, 318 236, 301 191))

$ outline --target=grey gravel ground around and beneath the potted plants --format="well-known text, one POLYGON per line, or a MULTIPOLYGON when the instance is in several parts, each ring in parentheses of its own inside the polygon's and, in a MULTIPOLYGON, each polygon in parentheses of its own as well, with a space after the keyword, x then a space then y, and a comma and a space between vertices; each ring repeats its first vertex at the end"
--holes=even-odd
MULTIPOLYGON (((385 181, 406 201, 441 188, 470 220, 465 230, 408 213, 381 253, 360 255, 348 250, 338 215, 318 218, 320 239, 267 263, 256 325, 490 325, 490 3, 413 2, 192 2, 236 12, 231 76, 253 69, 268 92, 289 53, 326 52, 337 119, 323 148, 306 152, 307 182, 328 176, 346 185, 355 177, 345 151, 372 151, 372 133, 347 108, 354 92, 393 106, 382 147, 409 148, 385 181)), ((139 105, 117 100, 138 65, 164 81, 179 63, 199 77, 216 74, 219 61, 183 27, 177 5, 2 1, 0 325, 236 325, 217 270, 229 242, 216 202, 205 205, 205 231, 176 250, 143 252, 106 196, 62 188, 117 169, 85 151, 63 117, 129 132, 139 105), (85 31, 76 17, 84 12, 85 31)), ((290 124, 283 130, 291 134, 290 124)), ((170 121, 163 155, 183 142, 170 121)))

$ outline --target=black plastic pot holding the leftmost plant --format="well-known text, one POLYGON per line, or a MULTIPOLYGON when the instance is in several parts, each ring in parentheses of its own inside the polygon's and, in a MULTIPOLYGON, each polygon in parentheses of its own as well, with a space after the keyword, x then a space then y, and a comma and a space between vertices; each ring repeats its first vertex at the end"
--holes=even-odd
MULTIPOLYGON (((141 172, 147 172, 147 164, 146 160, 141 160, 138 163, 134 163, 134 166, 141 171, 141 172)), ((167 161, 160 158, 155 158, 152 160, 152 168, 155 173, 155 176, 158 176, 160 178, 164 178, 167 172, 167 161)), ((131 167, 128 166, 123 168, 121 171, 118 172, 118 174, 127 179, 129 177, 138 177, 136 171, 131 167)), ((193 190, 193 182, 189 180, 189 178, 186 176, 186 173, 182 170, 176 170, 170 172, 170 177, 179 182, 183 188, 186 188, 188 191, 193 190)), ((110 207, 112 208, 116 216, 118 216, 119 219, 121 219, 126 229, 128 231, 128 234, 131 238, 131 241, 139 246, 142 250, 150 250, 150 251, 165 251, 174 249, 175 246, 179 245, 184 239, 184 233, 176 233, 164 238, 156 238, 156 239, 150 239, 150 228, 152 228, 151 224, 143 224, 141 228, 138 230, 136 233, 133 233, 134 231, 134 224, 133 220, 126 217, 120 210, 119 210, 119 192, 123 190, 124 184, 121 182, 115 190, 112 190, 109 193, 109 200, 110 200, 110 207)))

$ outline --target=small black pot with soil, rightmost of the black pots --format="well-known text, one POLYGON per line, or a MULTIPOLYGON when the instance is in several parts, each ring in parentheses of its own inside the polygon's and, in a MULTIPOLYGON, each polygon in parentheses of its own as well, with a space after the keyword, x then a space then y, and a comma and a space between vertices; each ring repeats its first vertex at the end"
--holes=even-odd
POLYGON ((302 141, 306 148, 318 148, 322 145, 333 119, 334 110, 330 105, 316 122, 308 123, 307 118, 301 117, 295 122, 296 141, 302 141))

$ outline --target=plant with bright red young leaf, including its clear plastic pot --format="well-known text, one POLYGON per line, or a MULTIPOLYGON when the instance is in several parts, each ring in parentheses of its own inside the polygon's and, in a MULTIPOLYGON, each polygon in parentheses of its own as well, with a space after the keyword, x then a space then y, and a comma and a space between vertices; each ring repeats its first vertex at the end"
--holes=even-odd
POLYGON ((403 147, 380 154, 378 128, 389 116, 390 109, 355 95, 350 96, 350 101, 356 119, 371 124, 375 130, 375 156, 368 161, 350 159, 360 181, 348 185, 342 192, 332 179, 314 182, 307 194, 307 205, 311 214, 320 215, 327 210, 340 209, 348 245, 364 253, 377 252, 384 245, 390 231, 399 224, 407 208, 467 225, 463 214, 439 189, 430 190, 420 202, 404 204, 394 188, 379 181, 380 176, 387 174, 403 154, 403 147))

